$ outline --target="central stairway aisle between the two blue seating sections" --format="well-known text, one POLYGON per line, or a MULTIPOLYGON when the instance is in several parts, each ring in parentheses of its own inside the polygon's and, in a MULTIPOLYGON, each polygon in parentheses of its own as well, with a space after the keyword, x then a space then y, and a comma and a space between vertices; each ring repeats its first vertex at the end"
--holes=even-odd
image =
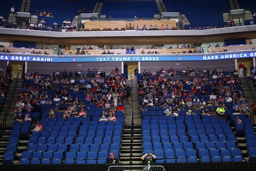
POLYGON ((139 97, 137 90, 137 80, 127 80, 126 84, 132 87, 132 100, 133 105, 127 104, 124 114, 124 129, 122 135, 120 162, 124 165, 140 165, 142 161, 142 127, 141 115, 139 111, 139 97), (132 130, 132 111, 133 117, 133 130, 132 130))

